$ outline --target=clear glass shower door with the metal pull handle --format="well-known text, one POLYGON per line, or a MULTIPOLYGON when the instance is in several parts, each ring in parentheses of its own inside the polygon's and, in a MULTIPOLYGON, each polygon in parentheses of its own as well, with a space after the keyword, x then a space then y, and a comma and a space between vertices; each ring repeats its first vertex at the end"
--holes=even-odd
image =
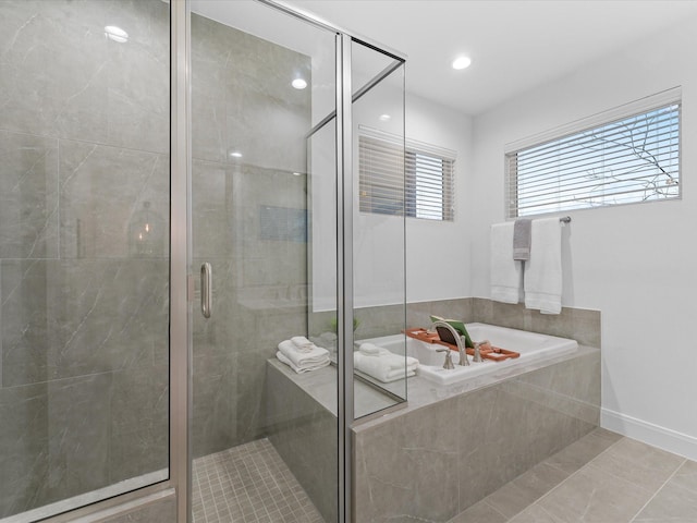
POLYGON ((334 111, 334 34, 259 2, 191 5, 191 271, 212 269, 212 314, 193 315, 193 520, 335 521, 333 340, 308 329, 316 239, 337 272, 335 228, 310 232, 315 203, 335 212, 334 124, 309 138, 334 111), (327 349, 309 362, 293 337, 327 349))

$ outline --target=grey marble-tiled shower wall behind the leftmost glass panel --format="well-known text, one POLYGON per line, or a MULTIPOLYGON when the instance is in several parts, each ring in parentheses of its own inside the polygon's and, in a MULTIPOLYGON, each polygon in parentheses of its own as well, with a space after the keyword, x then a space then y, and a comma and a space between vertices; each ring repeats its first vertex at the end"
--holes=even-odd
POLYGON ((169 8, 0 11, 3 518, 168 464, 169 8))

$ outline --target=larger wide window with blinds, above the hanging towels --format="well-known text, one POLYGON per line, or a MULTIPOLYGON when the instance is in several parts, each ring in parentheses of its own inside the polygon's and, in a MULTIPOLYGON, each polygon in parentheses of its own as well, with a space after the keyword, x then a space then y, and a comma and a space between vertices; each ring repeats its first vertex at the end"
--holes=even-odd
POLYGON ((680 114, 671 89, 511 147, 509 218, 680 197, 680 114))

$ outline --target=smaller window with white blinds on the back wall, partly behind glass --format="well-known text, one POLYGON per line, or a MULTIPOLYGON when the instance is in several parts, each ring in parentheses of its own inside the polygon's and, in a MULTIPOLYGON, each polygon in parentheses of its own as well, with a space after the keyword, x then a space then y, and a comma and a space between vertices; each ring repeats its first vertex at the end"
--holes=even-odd
POLYGON ((360 135, 360 211, 452 221, 454 166, 454 154, 447 149, 360 135))

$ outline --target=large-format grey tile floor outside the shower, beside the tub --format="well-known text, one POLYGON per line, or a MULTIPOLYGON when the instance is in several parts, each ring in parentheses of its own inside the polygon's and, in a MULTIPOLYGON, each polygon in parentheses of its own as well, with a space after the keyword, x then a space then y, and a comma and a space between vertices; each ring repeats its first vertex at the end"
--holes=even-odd
POLYGON ((697 463, 597 429, 450 523, 697 523, 697 463))

